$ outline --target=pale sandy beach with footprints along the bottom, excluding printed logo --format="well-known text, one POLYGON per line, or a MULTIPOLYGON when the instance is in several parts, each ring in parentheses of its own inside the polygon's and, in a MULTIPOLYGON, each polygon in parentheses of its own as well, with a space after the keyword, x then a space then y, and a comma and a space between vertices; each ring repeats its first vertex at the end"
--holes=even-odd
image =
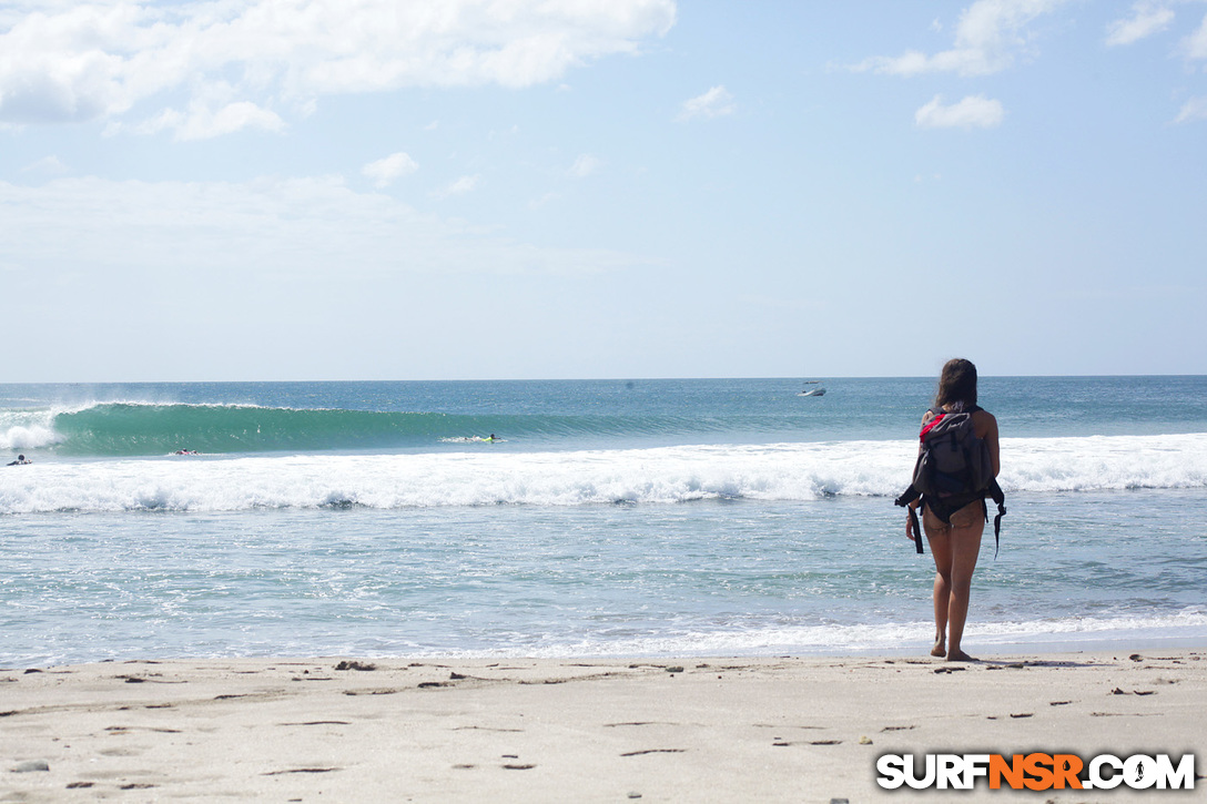
POLYGON ((1201 800, 890 792, 875 763, 1201 756, 1205 701, 1203 651, 21 668, 0 671, 0 800, 1201 800))

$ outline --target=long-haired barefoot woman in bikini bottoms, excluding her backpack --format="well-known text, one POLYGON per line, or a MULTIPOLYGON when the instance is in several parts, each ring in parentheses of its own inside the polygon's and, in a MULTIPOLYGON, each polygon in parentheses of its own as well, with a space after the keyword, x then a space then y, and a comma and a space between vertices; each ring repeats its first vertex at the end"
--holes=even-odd
MULTIPOLYGON (((993 477, 997 477, 1002 468, 997 419, 976 404, 976 367, 970 361, 956 357, 943 367, 934 408, 922 416, 922 426, 938 412, 972 414, 973 432, 989 448, 993 477)), ((917 508, 919 505, 923 506, 922 529, 935 567, 934 647, 931 656, 946 656, 949 662, 972 662, 973 658, 960 648, 960 640, 964 634, 973 570, 976 569, 981 534, 989 517, 984 493, 943 500, 925 495, 910 507, 917 508)), ((905 535, 911 540, 921 537, 914 532, 912 517, 905 518, 905 535)))

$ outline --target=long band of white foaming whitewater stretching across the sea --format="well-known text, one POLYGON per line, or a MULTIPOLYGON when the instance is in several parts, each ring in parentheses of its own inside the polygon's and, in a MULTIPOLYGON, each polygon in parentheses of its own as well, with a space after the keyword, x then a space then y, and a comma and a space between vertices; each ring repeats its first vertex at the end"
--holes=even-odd
MULTIPOLYGON (((0 471, 0 513, 437 508, 896 496, 912 441, 46 461, 0 471)), ((1003 439, 1016 491, 1207 487, 1207 433, 1003 439)))

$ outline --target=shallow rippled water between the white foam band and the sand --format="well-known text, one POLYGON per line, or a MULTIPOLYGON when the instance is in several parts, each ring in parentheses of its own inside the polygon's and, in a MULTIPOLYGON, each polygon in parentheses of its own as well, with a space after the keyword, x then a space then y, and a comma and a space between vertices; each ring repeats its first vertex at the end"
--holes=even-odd
MULTIPOLYGON (((966 642, 1202 641, 1202 496, 1019 495, 996 560, 985 536, 966 642)), ((4 524, 4 664, 919 653, 932 629, 933 564, 879 497, 4 524)))

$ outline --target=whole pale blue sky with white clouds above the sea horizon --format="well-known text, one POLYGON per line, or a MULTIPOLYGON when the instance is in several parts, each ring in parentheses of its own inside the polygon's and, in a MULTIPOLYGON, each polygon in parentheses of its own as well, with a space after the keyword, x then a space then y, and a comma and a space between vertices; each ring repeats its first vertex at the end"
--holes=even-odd
POLYGON ((0 381, 1203 374, 1205 267, 1205 0, 0 0, 0 381))

